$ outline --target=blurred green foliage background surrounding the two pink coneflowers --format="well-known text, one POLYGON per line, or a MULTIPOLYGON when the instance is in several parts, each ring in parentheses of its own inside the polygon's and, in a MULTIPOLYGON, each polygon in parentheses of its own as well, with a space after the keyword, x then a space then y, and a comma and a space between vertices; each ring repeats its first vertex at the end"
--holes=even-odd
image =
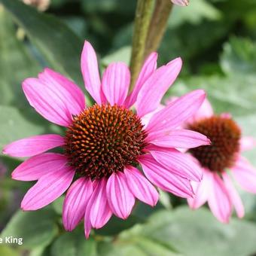
MULTIPOLYGON (((84 87, 80 54, 84 39, 99 53, 102 69, 129 63, 136 0, 51 0, 46 12, 17 0, 0 0, 0 146, 41 133, 63 133, 26 102, 20 84, 50 66, 84 87), (1 5, 2 4, 2 5, 1 5)), ((256 1, 191 0, 174 7, 159 49, 159 65, 181 56, 184 67, 166 94, 203 88, 215 111, 229 111, 245 135, 256 138, 256 1)), ((256 166, 256 151, 246 156, 256 166)), ((126 221, 112 218, 84 239, 83 225, 62 228, 61 197, 37 212, 21 212, 31 186, 11 180, 21 163, 0 156, 1 236, 23 245, 0 245, 0 255, 224 255, 256 253, 256 197, 241 191, 246 215, 218 223, 207 207, 191 212, 185 200, 161 193, 156 209, 138 203, 126 221)))

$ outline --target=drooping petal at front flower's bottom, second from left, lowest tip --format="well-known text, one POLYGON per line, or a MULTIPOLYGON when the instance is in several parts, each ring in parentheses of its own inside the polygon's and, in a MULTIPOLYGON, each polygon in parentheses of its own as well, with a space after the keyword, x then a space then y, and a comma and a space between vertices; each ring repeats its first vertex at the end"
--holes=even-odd
POLYGON ((90 197, 84 217, 84 220, 88 222, 87 230, 90 225, 95 228, 103 227, 112 215, 106 195, 107 181, 105 178, 102 178, 101 180, 96 180, 94 182, 93 194, 90 197), (87 218, 90 218, 90 222, 87 218))

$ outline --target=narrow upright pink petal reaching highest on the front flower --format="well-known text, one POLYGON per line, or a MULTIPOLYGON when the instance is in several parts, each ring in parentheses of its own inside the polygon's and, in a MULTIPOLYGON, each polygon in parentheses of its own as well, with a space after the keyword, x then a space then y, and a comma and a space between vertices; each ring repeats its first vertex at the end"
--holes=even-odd
POLYGON ((84 77, 85 88, 98 103, 102 103, 102 89, 99 78, 99 67, 97 56, 92 45, 84 41, 84 48, 81 55, 81 71, 84 77))

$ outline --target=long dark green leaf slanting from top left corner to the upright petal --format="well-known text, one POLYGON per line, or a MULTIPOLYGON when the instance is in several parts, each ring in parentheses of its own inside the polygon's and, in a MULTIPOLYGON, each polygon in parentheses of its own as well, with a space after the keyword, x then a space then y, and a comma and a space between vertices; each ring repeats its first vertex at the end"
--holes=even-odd
POLYGON ((69 75, 83 87, 80 57, 83 41, 65 23, 18 0, 0 0, 25 30, 29 39, 56 71, 69 75))

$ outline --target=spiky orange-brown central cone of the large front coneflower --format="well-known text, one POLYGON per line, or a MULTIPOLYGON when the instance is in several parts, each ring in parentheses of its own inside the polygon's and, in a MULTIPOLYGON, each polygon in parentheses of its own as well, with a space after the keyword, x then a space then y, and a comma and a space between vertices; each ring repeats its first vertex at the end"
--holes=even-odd
POLYGON ((93 105, 73 118, 66 131, 65 153, 80 175, 92 179, 136 165, 145 138, 140 118, 126 108, 93 105))

